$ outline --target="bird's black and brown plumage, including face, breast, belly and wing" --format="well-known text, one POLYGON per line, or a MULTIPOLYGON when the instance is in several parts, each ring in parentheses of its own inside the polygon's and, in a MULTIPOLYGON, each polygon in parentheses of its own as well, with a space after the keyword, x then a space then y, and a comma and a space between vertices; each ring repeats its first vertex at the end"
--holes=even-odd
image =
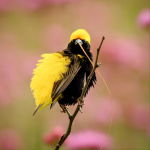
MULTIPOLYGON (((90 44, 87 41, 82 40, 82 47, 89 58, 93 61, 93 56, 90 52, 90 44)), ((84 75, 86 74, 87 79, 93 69, 93 66, 85 56, 79 44, 75 44, 75 40, 72 40, 68 44, 67 49, 59 53, 61 53, 64 57, 68 56, 71 60, 71 63, 68 66, 68 72, 63 75, 63 79, 54 83, 52 100, 54 101, 56 98, 58 98, 58 103, 61 105, 74 105, 77 103, 77 99, 82 93, 82 88, 84 86, 84 75)), ((96 75, 94 73, 85 96, 89 89, 92 86, 94 87, 94 83, 96 84, 96 81, 96 75)), ((54 103, 51 104, 51 107, 54 105, 54 103)))

